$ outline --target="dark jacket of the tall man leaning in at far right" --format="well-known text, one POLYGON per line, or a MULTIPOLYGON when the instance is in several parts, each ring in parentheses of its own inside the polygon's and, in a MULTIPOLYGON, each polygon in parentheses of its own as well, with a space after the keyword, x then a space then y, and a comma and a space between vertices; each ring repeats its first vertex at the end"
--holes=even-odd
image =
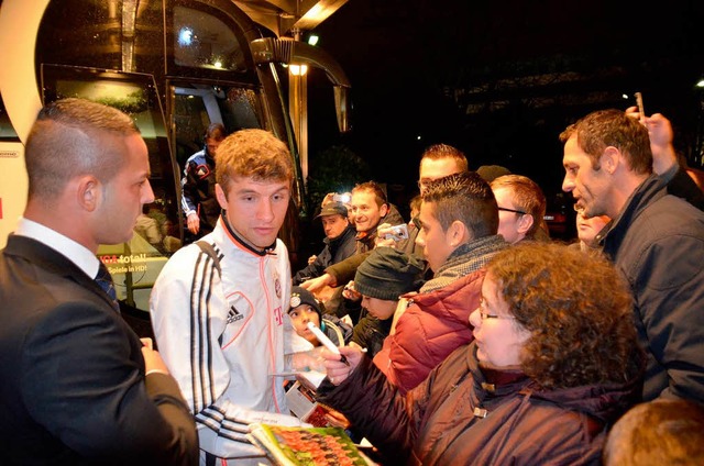
POLYGON ((651 176, 600 234, 623 271, 648 355, 644 400, 704 402, 704 212, 651 176))

